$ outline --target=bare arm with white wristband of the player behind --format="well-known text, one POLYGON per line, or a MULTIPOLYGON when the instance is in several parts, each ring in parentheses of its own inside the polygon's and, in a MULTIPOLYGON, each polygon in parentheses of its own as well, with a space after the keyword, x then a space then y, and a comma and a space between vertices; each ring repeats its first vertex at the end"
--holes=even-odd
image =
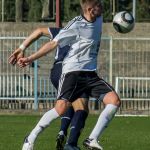
POLYGON ((23 41, 23 43, 17 48, 8 58, 10 64, 15 65, 17 61, 24 57, 24 51, 28 48, 34 41, 39 39, 41 36, 48 36, 51 38, 51 33, 48 31, 48 28, 38 28, 31 35, 23 41))

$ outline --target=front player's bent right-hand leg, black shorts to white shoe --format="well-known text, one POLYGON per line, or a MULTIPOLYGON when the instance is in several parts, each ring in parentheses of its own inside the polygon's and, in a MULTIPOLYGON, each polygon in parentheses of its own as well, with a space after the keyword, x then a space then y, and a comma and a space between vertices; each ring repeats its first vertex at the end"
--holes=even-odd
POLYGON ((95 148, 96 150, 102 150, 102 147, 98 144, 97 140, 101 137, 103 131, 108 126, 110 121, 115 116, 119 106, 120 99, 114 89, 102 79, 97 79, 97 83, 91 91, 92 95, 99 100, 103 100, 105 108, 100 114, 98 121, 90 134, 83 144, 88 148, 95 148), (99 91, 99 92, 98 92, 99 91), (97 93, 98 92, 98 93, 97 93))

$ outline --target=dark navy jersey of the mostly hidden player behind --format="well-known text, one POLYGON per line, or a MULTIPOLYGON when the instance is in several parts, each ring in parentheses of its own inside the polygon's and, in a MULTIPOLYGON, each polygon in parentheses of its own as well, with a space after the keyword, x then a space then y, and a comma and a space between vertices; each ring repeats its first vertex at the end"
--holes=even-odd
MULTIPOLYGON (((48 28, 48 30, 53 39, 55 38, 55 36, 59 33, 61 29, 60 28, 48 28)), ((57 47, 54 63, 59 63, 59 62, 61 63, 64 60, 65 56, 67 55, 68 50, 69 50, 69 46, 64 46, 62 48, 57 47)))

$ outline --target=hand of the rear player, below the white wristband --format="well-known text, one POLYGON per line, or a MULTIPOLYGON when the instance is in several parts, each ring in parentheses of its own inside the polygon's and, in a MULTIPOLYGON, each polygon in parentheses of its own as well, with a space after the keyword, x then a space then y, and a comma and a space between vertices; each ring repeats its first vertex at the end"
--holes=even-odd
POLYGON ((24 57, 24 52, 18 48, 8 58, 10 64, 15 65, 20 58, 24 57))

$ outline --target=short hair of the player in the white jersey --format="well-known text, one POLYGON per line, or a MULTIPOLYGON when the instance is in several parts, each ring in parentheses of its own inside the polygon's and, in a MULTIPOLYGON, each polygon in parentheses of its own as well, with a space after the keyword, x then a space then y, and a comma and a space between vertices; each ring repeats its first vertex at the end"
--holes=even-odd
POLYGON ((101 0, 80 0, 80 5, 83 10, 87 5, 95 6, 97 4, 101 4, 101 0))

